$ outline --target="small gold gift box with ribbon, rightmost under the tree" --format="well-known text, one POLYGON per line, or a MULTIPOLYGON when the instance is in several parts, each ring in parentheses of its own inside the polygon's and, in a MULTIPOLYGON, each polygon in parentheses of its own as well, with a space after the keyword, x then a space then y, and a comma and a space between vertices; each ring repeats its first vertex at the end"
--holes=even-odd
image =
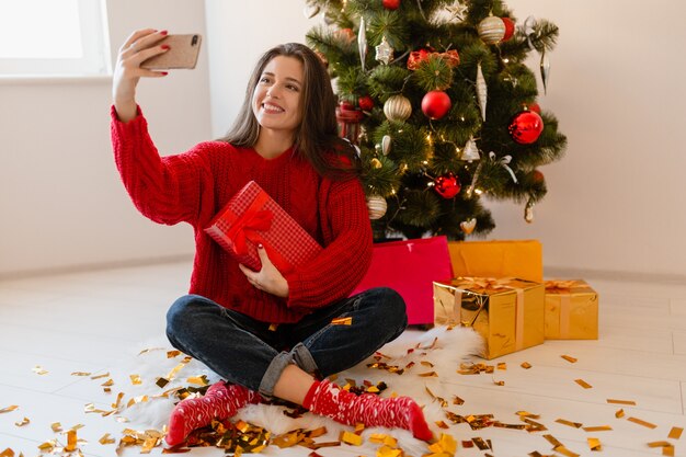
POLYGON ((585 282, 546 282, 546 340, 597 340, 598 294, 585 282))

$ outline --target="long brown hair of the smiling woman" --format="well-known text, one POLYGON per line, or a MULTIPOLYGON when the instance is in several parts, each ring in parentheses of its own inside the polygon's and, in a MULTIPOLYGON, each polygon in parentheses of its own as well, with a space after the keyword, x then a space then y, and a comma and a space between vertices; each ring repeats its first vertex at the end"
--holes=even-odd
POLYGON ((260 124, 252 112, 252 96, 264 67, 277 56, 295 57, 302 62, 302 121, 296 129, 294 144, 297 153, 322 176, 343 179, 355 175, 358 171, 357 156, 353 147, 338 135, 336 98, 329 73, 317 54, 300 43, 278 45, 262 55, 248 82, 238 117, 227 135, 219 140, 242 147, 253 147, 258 142, 260 124))

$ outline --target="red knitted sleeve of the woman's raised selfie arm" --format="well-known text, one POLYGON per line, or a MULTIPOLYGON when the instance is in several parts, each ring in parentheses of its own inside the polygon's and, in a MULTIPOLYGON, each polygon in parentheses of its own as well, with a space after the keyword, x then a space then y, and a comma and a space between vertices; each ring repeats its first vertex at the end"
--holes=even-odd
POLYGON ((165 225, 195 225, 199 215, 203 181, 211 176, 198 153, 201 147, 178 156, 160 157, 140 107, 123 123, 111 110, 112 147, 116 167, 132 201, 149 219, 165 225))

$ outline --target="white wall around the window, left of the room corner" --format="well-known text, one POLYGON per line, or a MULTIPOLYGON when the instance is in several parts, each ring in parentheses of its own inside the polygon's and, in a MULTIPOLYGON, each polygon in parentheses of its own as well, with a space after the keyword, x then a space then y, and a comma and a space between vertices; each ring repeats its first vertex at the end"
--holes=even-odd
MULTIPOLYGON (((111 0, 113 58, 141 27, 205 31, 202 0, 111 0)), ((139 103, 163 153, 210 136, 207 53, 194 71, 144 80, 139 103)), ((110 146, 111 81, 0 81, 0 277, 192 255, 188 227, 140 216, 110 146)))

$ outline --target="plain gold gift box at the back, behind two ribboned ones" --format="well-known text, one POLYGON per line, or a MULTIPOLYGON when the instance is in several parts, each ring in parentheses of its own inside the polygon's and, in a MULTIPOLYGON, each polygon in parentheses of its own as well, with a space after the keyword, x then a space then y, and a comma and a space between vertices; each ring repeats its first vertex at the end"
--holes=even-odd
POLYGON ((451 241, 456 277, 517 277, 544 282, 544 249, 537 240, 451 241))

